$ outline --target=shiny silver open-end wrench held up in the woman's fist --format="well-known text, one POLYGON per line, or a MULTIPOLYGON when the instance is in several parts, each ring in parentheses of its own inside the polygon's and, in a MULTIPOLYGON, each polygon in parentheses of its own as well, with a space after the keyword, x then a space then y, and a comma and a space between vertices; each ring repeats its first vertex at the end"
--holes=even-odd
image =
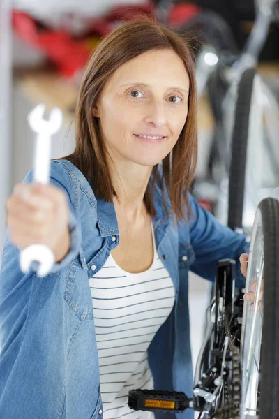
MULTIPOLYGON (((50 182, 50 151, 51 136, 58 132, 62 124, 62 112, 54 108, 50 112, 50 119, 43 119, 45 105, 36 106, 28 115, 29 126, 37 134, 35 152, 33 156, 34 176, 36 183, 50 182)), ((20 251, 20 269, 27 274, 33 262, 38 263, 38 277, 45 277, 54 265, 54 254, 45 244, 32 244, 20 251)))

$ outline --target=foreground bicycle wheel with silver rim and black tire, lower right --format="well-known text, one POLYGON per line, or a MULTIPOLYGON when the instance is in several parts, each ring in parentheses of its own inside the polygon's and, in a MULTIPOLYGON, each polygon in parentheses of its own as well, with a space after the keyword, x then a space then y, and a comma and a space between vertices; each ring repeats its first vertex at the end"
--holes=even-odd
POLYGON ((241 330, 241 419, 279 417, 279 200, 265 198, 252 228, 246 292, 257 280, 255 306, 244 302, 241 330), (259 291, 264 279, 264 297, 259 291), (262 342, 261 342, 262 341, 262 342), (260 390, 260 391, 259 391, 260 390))

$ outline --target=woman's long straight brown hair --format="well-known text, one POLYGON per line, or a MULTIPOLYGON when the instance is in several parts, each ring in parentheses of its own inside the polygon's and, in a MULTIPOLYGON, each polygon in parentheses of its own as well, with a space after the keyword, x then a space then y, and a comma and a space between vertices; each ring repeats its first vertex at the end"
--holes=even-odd
MULTIPOLYGON (((185 209, 193 215, 187 192, 193 182, 197 166, 197 92, 195 84, 194 54, 188 36, 178 35, 153 17, 140 17, 124 22, 103 38, 85 68, 76 105, 75 151, 66 157, 91 179, 92 189, 98 198, 113 203, 118 198, 107 170, 106 156, 98 129, 98 118, 92 115, 105 82, 122 64, 149 50, 171 49, 182 59, 190 79, 188 116, 179 140, 163 159, 162 186, 165 182, 171 201, 172 216, 180 222, 181 216, 188 223, 185 209), (171 162, 172 154, 172 162, 171 162), (172 165, 172 171, 170 168, 172 165), (186 208, 184 207, 186 206, 186 208)), ((156 214, 153 205, 153 191, 156 184, 158 164, 153 166, 151 192, 146 188, 144 203, 151 216, 156 214)), ((168 214, 164 199, 163 205, 168 214)))

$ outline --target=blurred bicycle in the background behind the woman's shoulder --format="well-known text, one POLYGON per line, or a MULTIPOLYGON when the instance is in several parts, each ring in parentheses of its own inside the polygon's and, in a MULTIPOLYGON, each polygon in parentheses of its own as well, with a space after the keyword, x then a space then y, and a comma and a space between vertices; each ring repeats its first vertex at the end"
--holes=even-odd
POLYGON ((212 179, 218 185, 215 215, 221 223, 247 237, 258 203, 277 186, 279 164, 278 101, 269 80, 254 68, 271 20, 269 15, 263 23, 263 18, 263 12, 259 12, 248 46, 229 69, 229 84, 224 85, 222 66, 209 80, 209 95, 218 121, 211 157, 212 179), (257 45, 261 27, 262 40, 257 45), (222 82, 225 93, 220 102, 216 91, 222 82))

